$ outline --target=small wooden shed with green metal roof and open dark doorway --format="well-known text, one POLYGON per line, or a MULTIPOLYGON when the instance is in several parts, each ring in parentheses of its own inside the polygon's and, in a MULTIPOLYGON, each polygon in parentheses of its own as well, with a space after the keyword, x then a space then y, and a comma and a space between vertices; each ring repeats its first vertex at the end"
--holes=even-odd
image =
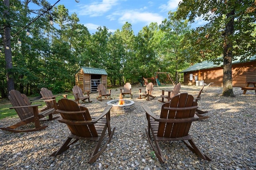
POLYGON ((76 85, 82 89, 97 92, 99 84, 107 89, 107 72, 101 68, 81 67, 75 74, 76 85))

